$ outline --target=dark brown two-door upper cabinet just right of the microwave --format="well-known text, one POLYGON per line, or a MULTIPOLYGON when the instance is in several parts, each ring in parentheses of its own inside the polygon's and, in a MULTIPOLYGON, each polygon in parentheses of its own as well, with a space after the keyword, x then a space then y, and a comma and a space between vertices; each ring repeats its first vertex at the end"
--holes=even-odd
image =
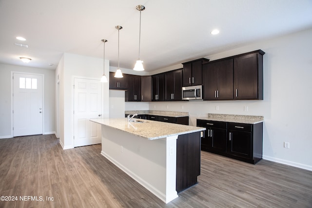
POLYGON ((233 100, 233 58, 203 64, 203 99, 233 100))

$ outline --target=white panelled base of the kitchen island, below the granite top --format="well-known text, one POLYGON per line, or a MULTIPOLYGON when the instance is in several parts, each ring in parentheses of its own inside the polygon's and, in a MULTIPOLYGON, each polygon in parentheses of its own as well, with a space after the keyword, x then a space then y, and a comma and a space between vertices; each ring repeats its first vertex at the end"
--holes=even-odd
POLYGON ((177 138, 178 135, 173 135, 148 140, 102 125, 101 154, 163 202, 168 203, 178 197, 177 138))

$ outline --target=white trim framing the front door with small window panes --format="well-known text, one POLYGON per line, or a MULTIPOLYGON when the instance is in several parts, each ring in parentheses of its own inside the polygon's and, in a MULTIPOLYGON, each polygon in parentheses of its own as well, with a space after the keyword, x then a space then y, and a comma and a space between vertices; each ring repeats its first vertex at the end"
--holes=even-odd
MULTIPOLYGON (((13 137, 13 74, 25 74, 25 75, 38 75, 42 76, 42 107, 45 109, 44 105, 44 74, 37 74, 37 73, 27 73, 27 72, 18 72, 18 71, 11 71, 11 137, 13 137)), ((44 134, 44 112, 42 111, 42 134, 44 134)))

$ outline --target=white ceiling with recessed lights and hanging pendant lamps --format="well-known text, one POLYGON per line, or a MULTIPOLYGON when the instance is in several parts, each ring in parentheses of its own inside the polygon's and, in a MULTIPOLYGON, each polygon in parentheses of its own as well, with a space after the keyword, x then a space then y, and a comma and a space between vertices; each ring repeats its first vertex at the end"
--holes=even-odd
POLYGON ((120 67, 132 69, 138 4, 146 7, 140 50, 146 71, 312 28, 312 0, 0 0, 0 63, 56 69, 63 53, 103 58, 105 38, 105 59, 117 66, 121 25, 120 67), (215 28, 220 33, 213 36, 215 28))

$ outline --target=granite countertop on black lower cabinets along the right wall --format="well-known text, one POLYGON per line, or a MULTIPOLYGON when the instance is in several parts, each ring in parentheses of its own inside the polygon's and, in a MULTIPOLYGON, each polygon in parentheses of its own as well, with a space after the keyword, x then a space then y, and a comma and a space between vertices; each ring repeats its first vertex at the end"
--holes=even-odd
POLYGON ((263 122, 263 116, 260 115, 232 115, 232 114, 208 113, 208 116, 198 117, 197 119, 243 123, 243 124, 256 124, 263 122))

